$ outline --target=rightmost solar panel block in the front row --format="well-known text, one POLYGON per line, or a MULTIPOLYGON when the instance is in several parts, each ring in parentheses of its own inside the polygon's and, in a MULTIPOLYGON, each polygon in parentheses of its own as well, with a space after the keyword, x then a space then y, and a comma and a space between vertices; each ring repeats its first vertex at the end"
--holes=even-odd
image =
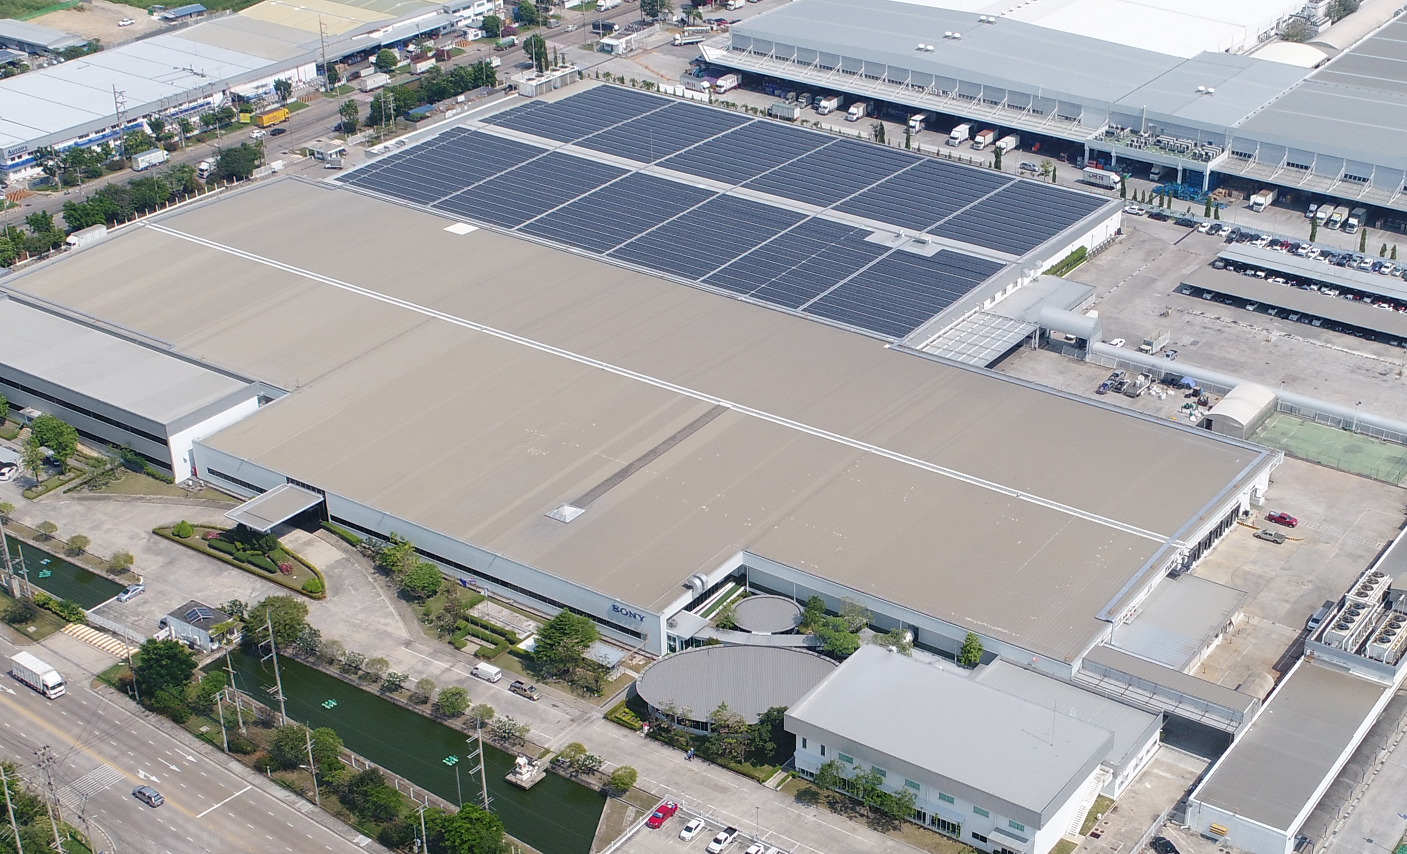
POLYGON ((903 338, 996 274, 1003 265, 961 252, 893 252, 802 311, 903 338))

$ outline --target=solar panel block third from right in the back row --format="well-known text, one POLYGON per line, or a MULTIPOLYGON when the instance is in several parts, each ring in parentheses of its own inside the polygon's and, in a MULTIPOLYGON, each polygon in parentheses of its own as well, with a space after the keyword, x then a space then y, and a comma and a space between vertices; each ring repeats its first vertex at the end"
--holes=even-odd
POLYGON ((839 139, 747 183, 753 190, 820 207, 860 193, 923 158, 853 139, 839 139))

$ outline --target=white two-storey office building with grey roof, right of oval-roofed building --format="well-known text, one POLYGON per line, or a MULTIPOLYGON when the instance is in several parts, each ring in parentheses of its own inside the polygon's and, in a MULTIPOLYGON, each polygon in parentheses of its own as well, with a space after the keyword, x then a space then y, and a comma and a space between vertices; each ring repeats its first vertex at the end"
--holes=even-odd
POLYGON ((913 820, 998 854, 1045 854, 1078 830, 1117 741, 953 663, 878 646, 861 647, 796 702, 787 730, 805 777, 829 761, 847 778, 872 770, 886 791, 915 794, 913 820))

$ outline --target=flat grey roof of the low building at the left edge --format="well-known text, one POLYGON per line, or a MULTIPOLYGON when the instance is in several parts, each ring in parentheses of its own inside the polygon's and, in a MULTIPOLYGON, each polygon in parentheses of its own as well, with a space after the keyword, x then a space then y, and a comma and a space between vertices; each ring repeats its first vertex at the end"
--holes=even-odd
POLYGON ((250 387, 245 380, 4 297, 0 364, 165 425, 250 387))

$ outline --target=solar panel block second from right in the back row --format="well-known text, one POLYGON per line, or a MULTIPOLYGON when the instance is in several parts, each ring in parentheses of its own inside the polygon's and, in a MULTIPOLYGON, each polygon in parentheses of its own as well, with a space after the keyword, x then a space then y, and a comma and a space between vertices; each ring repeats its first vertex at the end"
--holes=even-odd
POLYGON ((1000 172, 924 160, 837 204, 836 210, 913 231, 927 231, 934 222, 951 217, 1013 180, 1016 179, 1000 172))

